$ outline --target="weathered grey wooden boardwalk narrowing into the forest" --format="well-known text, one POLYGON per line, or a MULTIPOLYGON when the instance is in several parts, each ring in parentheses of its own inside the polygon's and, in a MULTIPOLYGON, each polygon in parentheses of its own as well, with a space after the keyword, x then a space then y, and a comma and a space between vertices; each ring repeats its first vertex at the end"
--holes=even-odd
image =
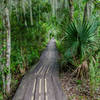
POLYGON ((35 69, 24 76, 13 100, 68 100, 59 81, 58 52, 52 39, 35 69))

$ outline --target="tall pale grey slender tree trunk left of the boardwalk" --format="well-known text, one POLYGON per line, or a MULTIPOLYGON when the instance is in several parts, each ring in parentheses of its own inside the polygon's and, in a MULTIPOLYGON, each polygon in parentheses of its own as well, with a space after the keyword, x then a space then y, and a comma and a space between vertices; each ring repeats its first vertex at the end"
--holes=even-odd
POLYGON ((6 93, 10 94, 10 85, 11 85, 11 73, 10 73, 10 55, 11 55, 11 29, 10 29, 10 18, 9 18, 9 9, 6 7, 5 11, 5 29, 7 34, 7 51, 6 51, 6 67, 7 67, 7 75, 6 75, 6 93))

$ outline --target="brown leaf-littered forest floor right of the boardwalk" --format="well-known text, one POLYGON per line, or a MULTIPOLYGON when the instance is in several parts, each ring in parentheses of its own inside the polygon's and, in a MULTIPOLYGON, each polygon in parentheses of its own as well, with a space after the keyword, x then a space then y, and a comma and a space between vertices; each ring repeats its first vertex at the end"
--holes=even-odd
POLYGON ((90 95, 89 80, 78 80, 66 72, 60 75, 63 90, 69 100, 100 100, 100 88, 93 96, 90 95))

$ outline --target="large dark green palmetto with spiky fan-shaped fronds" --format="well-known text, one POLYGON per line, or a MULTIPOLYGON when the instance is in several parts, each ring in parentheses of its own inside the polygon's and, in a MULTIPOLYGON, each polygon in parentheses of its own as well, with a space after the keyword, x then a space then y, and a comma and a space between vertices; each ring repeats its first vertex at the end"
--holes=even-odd
POLYGON ((65 29, 66 57, 85 58, 98 47, 96 22, 71 22, 65 29))

